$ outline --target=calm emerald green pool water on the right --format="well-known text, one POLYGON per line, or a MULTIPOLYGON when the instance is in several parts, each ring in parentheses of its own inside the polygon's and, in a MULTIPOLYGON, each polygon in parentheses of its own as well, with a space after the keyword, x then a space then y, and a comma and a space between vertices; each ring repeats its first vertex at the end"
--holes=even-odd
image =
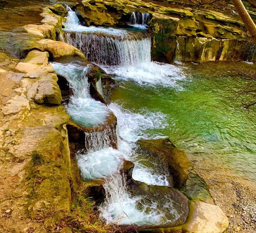
MULTIPOLYGON (((240 65, 256 70, 255 65, 240 65)), ((168 126, 147 133, 167 136, 190 159, 256 182, 256 111, 246 111, 235 99, 247 82, 234 74, 233 64, 182 67, 187 78, 177 81, 178 88, 123 81, 112 101, 135 113, 162 112, 168 126)))

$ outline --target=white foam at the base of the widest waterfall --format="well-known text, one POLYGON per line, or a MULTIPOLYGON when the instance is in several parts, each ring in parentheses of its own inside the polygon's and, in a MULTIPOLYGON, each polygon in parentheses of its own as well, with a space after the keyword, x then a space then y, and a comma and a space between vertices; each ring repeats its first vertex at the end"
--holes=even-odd
POLYGON ((121 80, 132 80, 142 86, 174 86, 181 89, 177 81, 186 78, 182 68, 160 62, 144 62, 128 67, 102 66, 102 68, 121 80))

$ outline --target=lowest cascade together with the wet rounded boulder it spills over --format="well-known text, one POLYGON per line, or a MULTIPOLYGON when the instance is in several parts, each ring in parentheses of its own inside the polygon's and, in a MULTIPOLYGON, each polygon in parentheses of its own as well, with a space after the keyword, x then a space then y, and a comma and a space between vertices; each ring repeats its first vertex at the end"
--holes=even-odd
MULTIPOLYGON (((137 184, 140 185, 140 184, 137 184)), ((106 201, 100 206, 101 217, 106 223, 132 226, 175 226, 187 218, 187 208, 176 191, 163 186, 145 186, 141 195, 129 193, 124 174, 114 173, 103 185, 106 201), (153 190, 156 190, 156 194, 153 190)), ((143 188, 144 187, 144 188, 143 188)))

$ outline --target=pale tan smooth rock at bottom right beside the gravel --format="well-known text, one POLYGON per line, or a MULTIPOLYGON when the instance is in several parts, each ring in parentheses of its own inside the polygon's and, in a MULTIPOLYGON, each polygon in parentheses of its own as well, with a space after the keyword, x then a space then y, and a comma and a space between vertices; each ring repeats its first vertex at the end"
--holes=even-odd
POLYGON ((201 201, 190 203, 190 215, 183 230, 188 233, 223 233, 229 222, 227 216, 217 205, 201 201))

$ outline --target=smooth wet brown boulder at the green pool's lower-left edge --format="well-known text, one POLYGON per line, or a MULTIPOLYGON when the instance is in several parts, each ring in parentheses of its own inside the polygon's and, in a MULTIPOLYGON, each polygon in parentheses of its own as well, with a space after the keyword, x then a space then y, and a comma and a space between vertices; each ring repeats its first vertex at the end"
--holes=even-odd
POLYGON ((186 154, 177 149, 169 139, 139 140, 137 144, 145 154, 155 154, 167 162, 174 187, 190 200, 214 204, 205 181, 194 171, 186 154))

